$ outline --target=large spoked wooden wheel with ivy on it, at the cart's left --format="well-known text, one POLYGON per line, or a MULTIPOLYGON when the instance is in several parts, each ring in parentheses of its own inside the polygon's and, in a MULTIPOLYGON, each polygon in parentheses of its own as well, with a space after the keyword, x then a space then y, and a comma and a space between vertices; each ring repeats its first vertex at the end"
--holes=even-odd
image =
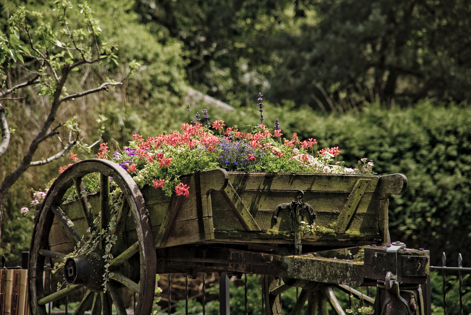
MULTIPOLYGON (((80 204, 81 220, 85 220, 93 231, 95 228, 93 225, 93 205, 90 205, 86 196, 80 198, 80 204)), ((68 296, 81 288, 85 288, 86 293, 74 315, 84 314, 87 310, 91 310, 91 314, 111 315, 112 304, 119 315, 124 315, 126 309, 118 291, 123 285, 138 293, 135 314, 150 314, 154 299, 155 271, 155 245, 144 198, 135 181, 121 166, 104 159, 88 159, 75 163, 57 177, 38 213, 30 245, 29 303, 33 315, 46 315, 45 304, 68 296), (46 257, 48 257, 48 261, 64 258, 64 254, 71 252, 70 248, 73 247, 69 246, 68 250, 57 249, 57 252, 50 250, 54 249, 49 248, 49 232, 54 219, 62 226, 68 236, 68 240, 64 240, 64 242, 70 241, 75 245, 82 241, 79 245, 83 246, 83 241, 85 241, 82 240, 85 230, 76 228, 61 206, 65 192, 71 187, 75 188, 78 196, 82 196, 81 192, 85 190, 82 178, 90 173, 98 173, 100 177, 100 201, 95 206, 95 213, 100 215, 98 229, 106 229, 110 221, 109 177, 112 177, 124 196, 122 206, 116 213, 116 225, 113 230, 117 240, 111 248, 114 259, 110 261, 108 275, 112 280, 106 283, 107 290, 104 292, 102 283, 104 282, 106 260, 102 256, 109 243, 106 240, 101 240, 98 242, 97 250, 81 254, 80 257, 73 259, 68 258, 64 270, 65 279, 70 285, 45 296, 43 266, 46 257), (126 225, 136 227, 137 242, 130 241, 129 243, 133 244, 128 244, 126 225), (136 267, 139 265, 140 267, 136 267)))

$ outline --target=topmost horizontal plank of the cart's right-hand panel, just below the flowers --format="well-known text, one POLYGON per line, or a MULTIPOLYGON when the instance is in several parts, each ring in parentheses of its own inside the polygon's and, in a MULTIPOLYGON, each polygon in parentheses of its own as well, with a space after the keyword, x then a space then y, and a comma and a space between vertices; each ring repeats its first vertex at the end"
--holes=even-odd
POLYGON ((352 191, 360 178, 370 179, 373 192, 377 175, 316 174, 316 173, 237 173, 228 172, 235 190, 303 190, 306 191, 352 191))

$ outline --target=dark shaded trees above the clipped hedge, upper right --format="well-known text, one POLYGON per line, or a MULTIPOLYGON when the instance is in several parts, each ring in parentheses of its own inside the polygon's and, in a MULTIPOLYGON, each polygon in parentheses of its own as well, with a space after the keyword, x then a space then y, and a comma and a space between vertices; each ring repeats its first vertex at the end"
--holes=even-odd
POLYGON ((327 110, 329 97, 348 110, 364 94, 402 105, 471 96, 463 0, 137 0, 135 10, 158 38, 182 42, 191 85, 234 104, 259 91, 327 110))

